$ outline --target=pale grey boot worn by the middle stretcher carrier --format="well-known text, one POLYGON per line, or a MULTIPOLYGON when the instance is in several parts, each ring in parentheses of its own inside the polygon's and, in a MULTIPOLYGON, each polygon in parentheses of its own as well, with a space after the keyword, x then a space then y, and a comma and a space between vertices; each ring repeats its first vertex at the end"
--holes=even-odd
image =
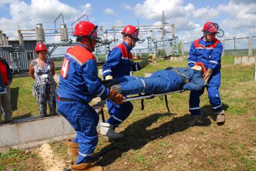
POLYGON ((113 128, 114 125, 108 124, 106 122, 101 122, 101 134, 107 141, 122 139, 123 137, 123 134, 116 133, 113 128))

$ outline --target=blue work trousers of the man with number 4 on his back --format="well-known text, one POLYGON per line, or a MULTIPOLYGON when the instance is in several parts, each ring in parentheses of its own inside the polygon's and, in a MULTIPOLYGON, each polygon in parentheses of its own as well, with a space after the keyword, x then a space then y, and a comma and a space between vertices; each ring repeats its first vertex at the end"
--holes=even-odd
POLYGON ((73 142, 78 143, 78 159, 76 164, 89 163, 93 151, 98 144, 98 133, 96 127, 99 116, 89 104, 76 101, 59 101, 58 112, 69 121, 76 137, 73 142))

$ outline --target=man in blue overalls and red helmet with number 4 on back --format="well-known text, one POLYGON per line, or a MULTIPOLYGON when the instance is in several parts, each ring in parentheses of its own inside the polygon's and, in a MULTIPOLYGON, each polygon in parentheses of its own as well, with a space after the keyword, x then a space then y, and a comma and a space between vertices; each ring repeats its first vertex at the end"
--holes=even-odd
POLYGON ((61 67, 57 91, 58 112, 76 131, 72 143, 78 146, 78 158, 76 163, 70 164, 71 169, 101 171, 101 166, 90 164, 98 143, 96 127, 99 116, 89 102, 94 97, 101 97, 122 104, 124 98, 114 89, 105 88, 98 77, 96 59, 92 54, 96 43, 102 43, 97 26, 90 22, 79 22, 73 35, 76 36, 76 45, 68 50, 61 67))

